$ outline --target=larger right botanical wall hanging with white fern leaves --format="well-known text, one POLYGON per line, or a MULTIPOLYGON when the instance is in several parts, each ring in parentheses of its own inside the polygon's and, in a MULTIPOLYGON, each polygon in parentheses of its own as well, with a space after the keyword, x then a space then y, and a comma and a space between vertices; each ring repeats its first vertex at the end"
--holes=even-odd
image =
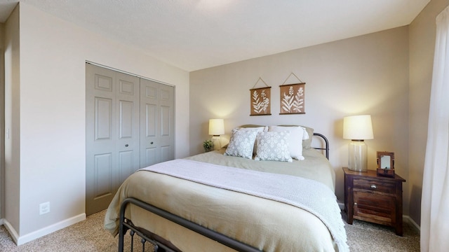
MULTIPOLYGON (((295 73, 290 73, 288 78, 293 74, 295 76, 295 73)), ((297 76, 295 76, 297 78, 297 76)), ((286 81, 288 80, 286 79, 286 81)), ((300 78, 297 78, 300 80, 300 78)), ((284 83, 286 83, 284 81, 284 83)), ((288 84, 288 85, 280 85, 279 89, 281 90, 281 109, 280 109, 280 115, 290 115, 290 114, 304 114, 305 112, 305 90, 304 87, 306 83, 303 83, 300 80, 301 83, 296 84, 288 84)))

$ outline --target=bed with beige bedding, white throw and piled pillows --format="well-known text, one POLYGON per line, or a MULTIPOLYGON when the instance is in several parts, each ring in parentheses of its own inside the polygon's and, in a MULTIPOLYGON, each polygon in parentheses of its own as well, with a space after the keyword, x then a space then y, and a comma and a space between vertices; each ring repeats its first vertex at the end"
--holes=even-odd
POLYGON ((128 177, 105 215, 119 251, 128 230, 155 251, 348 251, 335 173, 310 146, 313 136, 322 137, 328 157, 326 137, 309 127, 250 126, 234 129, 220 151, 128 177), (235 146, 243 141, 237 134, 253 144, 235 146), (276 154, 264 153, 273 142, 276 154))

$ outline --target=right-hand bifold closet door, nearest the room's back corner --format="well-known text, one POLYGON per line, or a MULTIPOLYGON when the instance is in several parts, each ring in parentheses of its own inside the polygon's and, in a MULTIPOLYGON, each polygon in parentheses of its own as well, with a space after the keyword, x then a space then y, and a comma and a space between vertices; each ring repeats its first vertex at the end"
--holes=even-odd
POLYGON ((140 167, 175 158, 174 87, 140 79, 140 167))

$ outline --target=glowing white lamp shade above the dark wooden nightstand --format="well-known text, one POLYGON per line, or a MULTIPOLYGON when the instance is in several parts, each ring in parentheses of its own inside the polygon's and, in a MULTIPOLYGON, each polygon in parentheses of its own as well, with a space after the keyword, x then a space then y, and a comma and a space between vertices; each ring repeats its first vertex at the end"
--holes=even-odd
POLYGON ((373 139, 371 116, 347 116, 343 118, 343 139, 373 139))

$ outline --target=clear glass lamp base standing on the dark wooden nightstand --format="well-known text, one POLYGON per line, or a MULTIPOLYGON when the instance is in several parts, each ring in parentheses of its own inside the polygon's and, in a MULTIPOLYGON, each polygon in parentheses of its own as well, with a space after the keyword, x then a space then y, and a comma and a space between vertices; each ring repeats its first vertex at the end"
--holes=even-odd
POLYGON ((368 146, 363 140, 351 140, 348 150, 348 169, 368 172, 368 146))

